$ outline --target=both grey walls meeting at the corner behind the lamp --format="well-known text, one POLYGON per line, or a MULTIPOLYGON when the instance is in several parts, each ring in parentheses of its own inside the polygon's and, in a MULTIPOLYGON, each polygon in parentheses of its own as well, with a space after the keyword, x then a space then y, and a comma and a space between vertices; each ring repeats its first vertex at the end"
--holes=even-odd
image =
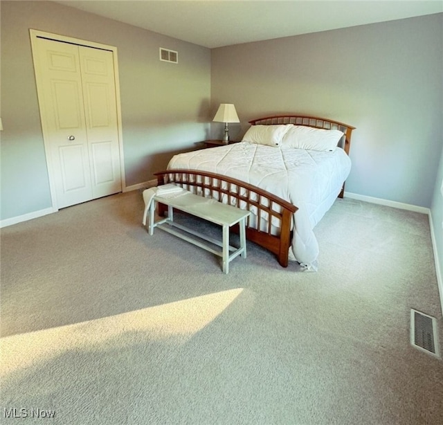
POLYGON ((118 47, 128 186, 194 149, 219 103, 233 102, 242 126, 232 136, 251 118, 289 111, 354 125, 349 192, 424 207, 435 199, 443 14, 210 51, 58 3, 2 0, 0 221, 51 206, 29 28, 118 47), (159 47, 179 51, 179 65, 160 62, 159 47))

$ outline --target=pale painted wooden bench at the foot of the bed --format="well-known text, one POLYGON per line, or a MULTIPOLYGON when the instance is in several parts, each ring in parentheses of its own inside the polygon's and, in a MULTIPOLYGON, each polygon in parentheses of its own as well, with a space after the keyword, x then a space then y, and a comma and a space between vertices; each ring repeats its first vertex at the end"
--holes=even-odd
POLYGON ((158 227, 168 233, 171 233, 172 235, 195 244, 200 248, 204 248, 206 251, 219 255, 219 257, 221 257, 223 260, 224 273, 228 273, 229 263, 235 257, 237 257, 237 255, 246 258, 246 217, 251 214, 249 211, 240 210, 239 208, 226 204, 221 204, 221 202, 216 201, 215 199, 201 197, 184 189, 181 192, 169 195, 154 195, 154 197, 150 200, 150 204, 146 205, 143 224, 146 223, 146 215, 148 210, 148 229, 150 235, 153 235, 154 228, 158 227), (156 202, 160 202, 161 204, 168 206, 168 217, 160 219, 159 221, 154 221, 156 202), (174 222, 174 208, 222 226, 222 241, 220 242, 213 237, 203 235, 196 230, 174 222), (237 223, 239 224, 239 248, 230 246, 229 244, 229 229, 231 226, 237 223), (179 230, 176 230, 175 228, 179 230), (208 242, 210 242, 210 244, 208 244, 208 242), (221 251, 215 249, 213 247, 214 245, 221 247, 221 251))

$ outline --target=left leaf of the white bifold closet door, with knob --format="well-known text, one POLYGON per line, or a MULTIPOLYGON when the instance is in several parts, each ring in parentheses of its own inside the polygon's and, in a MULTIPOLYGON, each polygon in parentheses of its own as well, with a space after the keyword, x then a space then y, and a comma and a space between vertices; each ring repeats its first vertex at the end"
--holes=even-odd
POLYGON ((78 46, 38 38, 37 48, 57 207, 64 208, 93 197, 78 46))

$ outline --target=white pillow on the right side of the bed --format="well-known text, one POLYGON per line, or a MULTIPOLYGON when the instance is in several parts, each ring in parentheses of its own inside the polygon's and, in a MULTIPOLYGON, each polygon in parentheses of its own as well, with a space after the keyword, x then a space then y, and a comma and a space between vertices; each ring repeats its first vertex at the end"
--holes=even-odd
POLYGON ((327 130, 305 125, 291 125, 289 127, 291 128, 283 136, 282 147, 334 152, 343 137, 343 132, 340 130, 327 130))

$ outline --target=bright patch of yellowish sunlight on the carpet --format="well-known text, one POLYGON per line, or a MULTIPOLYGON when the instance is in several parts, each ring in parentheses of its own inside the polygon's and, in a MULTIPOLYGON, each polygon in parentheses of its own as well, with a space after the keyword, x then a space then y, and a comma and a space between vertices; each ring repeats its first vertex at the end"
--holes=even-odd
POLYGON ((156 305, 73 325, 0 338, 0 377, 69 351, 90 352, 142 341, 186 343, 229 307, 243 289, 156 305))

